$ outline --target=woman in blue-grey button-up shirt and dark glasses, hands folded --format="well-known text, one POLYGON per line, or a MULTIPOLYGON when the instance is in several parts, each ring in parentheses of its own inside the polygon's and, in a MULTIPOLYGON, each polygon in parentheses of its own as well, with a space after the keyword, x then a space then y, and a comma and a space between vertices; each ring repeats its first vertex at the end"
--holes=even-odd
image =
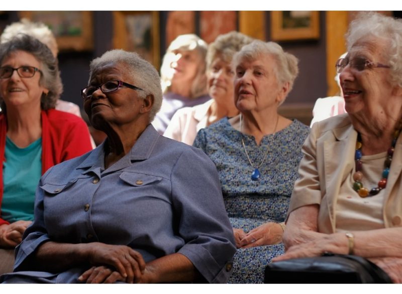
POLYGON ((216 168, 150 124, 162 102, 154 67, 109 51, 82 97, 108 138, 41 178, 5 282, 227 281, 235 245, 216 168))

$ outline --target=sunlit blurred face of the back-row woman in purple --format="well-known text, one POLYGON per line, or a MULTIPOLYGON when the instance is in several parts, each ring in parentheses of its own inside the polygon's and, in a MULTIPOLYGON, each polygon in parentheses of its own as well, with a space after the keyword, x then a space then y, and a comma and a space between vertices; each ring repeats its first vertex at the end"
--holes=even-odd
POLYGON ((170 64, 173 69, 172 84, 191 84, 197 74, 200 63, 199 54, 195 50, 175 50, 174 54, 174 60, 170 64))

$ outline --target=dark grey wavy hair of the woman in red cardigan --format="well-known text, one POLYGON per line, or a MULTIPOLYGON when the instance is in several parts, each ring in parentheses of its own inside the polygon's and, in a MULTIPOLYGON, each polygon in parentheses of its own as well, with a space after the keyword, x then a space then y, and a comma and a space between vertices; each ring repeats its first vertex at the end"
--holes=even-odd
MULTIPOLYGON (((57 99, 63 92, 63 84, 61 83, 57 59, 49 47, 34 37, 18 34, 10 41, 0 44, 0 62, 3 63, 4 59, 15 51, 30 53, 39 61, 42 71, 39 83, 49 90, 47 94, 42 93, 41 108, 43 110, 54 108, 57 99)), ((2 97, 0 97, 0 103, 3 111, 6 110, 6 104, 2 97)))

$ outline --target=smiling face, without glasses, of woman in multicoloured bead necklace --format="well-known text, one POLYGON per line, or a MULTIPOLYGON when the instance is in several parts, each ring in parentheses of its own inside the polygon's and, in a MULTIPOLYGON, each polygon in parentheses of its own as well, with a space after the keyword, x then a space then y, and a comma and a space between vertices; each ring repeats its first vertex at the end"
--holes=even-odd
MULTIPOLYGON (((370 38, 358 41, 349 50, 347 58, 364 58, 374 64, 386 65, 386 48, 384 40, 370 38)), ((392 96, 395 87, 390 83, 388 68, 368 67, 359 71, 348 64, 339 78, 345 109, 349 114, 374 114, 390 104, 387 98, 392 96)))

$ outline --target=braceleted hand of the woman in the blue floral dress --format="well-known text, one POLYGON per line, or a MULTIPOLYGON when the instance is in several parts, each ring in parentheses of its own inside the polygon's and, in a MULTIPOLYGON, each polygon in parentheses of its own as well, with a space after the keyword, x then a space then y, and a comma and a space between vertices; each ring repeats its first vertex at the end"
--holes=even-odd
POLYGON ((277 223, 269 222, 252 229, 240 240, 241 248, 277 244, 282 240, 283 230, 277 223))

